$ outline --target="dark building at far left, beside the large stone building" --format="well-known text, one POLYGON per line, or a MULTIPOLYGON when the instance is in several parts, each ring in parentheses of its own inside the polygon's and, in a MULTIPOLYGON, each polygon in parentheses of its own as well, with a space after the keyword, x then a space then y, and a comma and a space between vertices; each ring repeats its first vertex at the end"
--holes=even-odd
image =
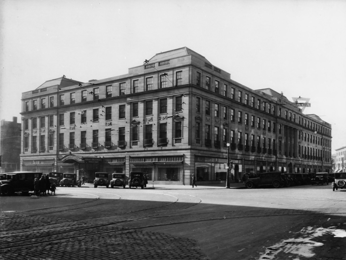
POLYGON ((1 167, 0 172, 19 171, 21 123, 17 123, 17 117, 12 121, 1 120, 1 167))

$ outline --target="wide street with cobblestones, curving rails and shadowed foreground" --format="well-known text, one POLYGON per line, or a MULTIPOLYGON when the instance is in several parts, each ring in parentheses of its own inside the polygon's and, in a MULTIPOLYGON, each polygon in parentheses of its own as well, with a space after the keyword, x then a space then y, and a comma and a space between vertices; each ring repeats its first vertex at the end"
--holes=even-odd
POLYGON ((0 201, 0 259, 346 259, 346 190, 330 184, 58 187, 0 201))

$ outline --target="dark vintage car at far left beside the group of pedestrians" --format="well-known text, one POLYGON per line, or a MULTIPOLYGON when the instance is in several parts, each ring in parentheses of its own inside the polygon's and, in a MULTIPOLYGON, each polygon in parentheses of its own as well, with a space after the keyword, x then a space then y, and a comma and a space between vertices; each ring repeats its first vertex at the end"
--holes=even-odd
POLYGON ((3 195, 15 192, 28 194, 34 191, 35 178, 40 179, 42 172, 12 172, 6 174, 6 179, 0 180, 0 191, 3 195))

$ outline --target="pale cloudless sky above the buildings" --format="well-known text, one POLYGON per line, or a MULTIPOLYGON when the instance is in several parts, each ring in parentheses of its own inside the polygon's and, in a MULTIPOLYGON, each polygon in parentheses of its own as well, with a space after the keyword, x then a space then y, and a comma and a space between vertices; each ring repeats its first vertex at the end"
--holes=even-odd
POLYGON ((21 93, 66 75, 126 74, 156 53, 188 47, 231 79, 311 98, 346 145, 346 1, 2 0, 0 119, 20 122, 21 93))

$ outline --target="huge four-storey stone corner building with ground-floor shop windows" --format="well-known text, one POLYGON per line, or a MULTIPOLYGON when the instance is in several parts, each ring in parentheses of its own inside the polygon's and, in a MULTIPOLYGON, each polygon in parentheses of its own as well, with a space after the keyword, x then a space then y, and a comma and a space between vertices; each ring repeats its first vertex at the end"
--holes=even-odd
POLYGON ((21 169, 86 174, 144 171, 159 184, 245 172, 331 170, 331 125, 282 93, 252 90, 202 55, 162 52, 128 74, 65 77, 22 95, 21 169))

